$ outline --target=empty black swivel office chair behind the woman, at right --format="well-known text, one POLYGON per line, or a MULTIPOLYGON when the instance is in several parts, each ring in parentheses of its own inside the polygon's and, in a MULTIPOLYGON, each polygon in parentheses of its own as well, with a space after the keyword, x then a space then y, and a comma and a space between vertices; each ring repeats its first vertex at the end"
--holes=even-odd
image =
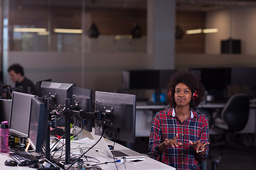
POLYGON ((230 134, 239 132, 245 128, 249 117, 250 100, 246 94, 235 94, 223 108, 221 118, 215 118, 213 125, 215 128, 225 131, 225 140, 218 143, 211 143, 210 147, 233 145, 246 150, 241 144, 236 144, 230 140, 230 134))

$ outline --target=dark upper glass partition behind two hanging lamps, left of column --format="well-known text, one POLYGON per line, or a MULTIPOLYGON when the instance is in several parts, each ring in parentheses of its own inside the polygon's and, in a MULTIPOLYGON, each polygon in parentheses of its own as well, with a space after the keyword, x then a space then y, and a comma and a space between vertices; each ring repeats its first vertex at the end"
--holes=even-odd
POLYGON ((10 51, 146 52, 146 1, 136 8, 85 0, 6 2, 10 51), (97 38, 87 35, 92 23, 100 32, 97 38), (142 31, 139 38, 131 35, 135 23, 142 31))

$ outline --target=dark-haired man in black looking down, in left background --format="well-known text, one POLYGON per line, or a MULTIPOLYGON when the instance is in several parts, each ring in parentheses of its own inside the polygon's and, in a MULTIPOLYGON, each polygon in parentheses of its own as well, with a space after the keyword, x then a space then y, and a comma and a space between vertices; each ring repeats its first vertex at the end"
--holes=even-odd
POLYGON ((12 64, 8 68, 8 72, 11 80, 15 82, 16 87, 22 86, 23 93, 28 93, 28 87, 31 87, 31 94, 33 94, 34 84, 31 80, 24 77, 23 67, 20 64, 12 64))

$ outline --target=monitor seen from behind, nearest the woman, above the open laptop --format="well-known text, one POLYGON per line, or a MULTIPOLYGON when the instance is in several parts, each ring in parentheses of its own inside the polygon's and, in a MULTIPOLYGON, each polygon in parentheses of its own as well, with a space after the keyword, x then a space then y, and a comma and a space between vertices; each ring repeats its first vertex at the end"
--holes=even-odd
POLYGON ((95 135, 124 142, 135 140, 135 95, 95 91, 95 135), (102 113, 102 114, 100 114, 102 113))

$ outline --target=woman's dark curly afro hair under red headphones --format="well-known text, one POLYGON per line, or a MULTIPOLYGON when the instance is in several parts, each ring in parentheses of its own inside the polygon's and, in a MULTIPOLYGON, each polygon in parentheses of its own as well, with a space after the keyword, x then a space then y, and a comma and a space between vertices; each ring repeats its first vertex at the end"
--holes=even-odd
POLYGON ((176 85, 179 83, 186 84, 186 86, 191 89, 192 97, 189 106, 191 108, 196 108, 196 106, 198 106, 203 101, 203 98, 205 96, 205 88, 203 84, 201 84, 201 82, 198 80, 198 78, 190 72, 176 72, 171 76, 171 81, 167 86, 167 103, 169 103, 170 106, 176 106, 174 100, 174 91, 176 85), (195 91, 197 91, 198 93, 198 98, 193 99, 193 93, 195 93, 195 91))

